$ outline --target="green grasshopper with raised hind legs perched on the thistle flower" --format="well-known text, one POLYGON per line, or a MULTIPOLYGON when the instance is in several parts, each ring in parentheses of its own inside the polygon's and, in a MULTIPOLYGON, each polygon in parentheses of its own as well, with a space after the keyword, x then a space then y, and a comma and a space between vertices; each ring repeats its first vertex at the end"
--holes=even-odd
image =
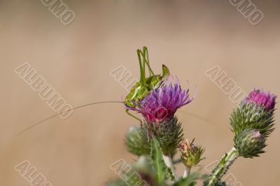
MULTIPOLYGON (((143 47, 143 51, 140 49, 137 50, 137 55, 139 59, 140 67, 140 80, 132 87, 130 93, 125 97, 125 105, 128 107, 136 107, 136 104, 143 100, 148 93, 150 93, 153 88, 159 88, 164 79, 169 77, 169 69, 162 65, 162 76, 160 74, 155 75, 150 66, 150 61, 148 59, 148 48, 143 47), (148 67, 149 77, 146 77, 146 65, 148 67)), ((129 109, 126 109, 125 112, 131 117, 141 121, 141 119, 135 117, 129 112, 129 109)))

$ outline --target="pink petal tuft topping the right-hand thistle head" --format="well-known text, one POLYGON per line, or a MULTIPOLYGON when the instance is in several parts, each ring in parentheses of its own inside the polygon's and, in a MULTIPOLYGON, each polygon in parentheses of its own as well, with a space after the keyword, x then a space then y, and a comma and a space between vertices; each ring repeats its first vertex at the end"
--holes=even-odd
POLYGON ((267 93, 260 89, 254 89, 245 98, 246 102, 254 102, 257 105, 265 107, 267 111, 274 109, 276 103, 275 100, 276 100, 276 95, 273 95, 269 92, 267 93))

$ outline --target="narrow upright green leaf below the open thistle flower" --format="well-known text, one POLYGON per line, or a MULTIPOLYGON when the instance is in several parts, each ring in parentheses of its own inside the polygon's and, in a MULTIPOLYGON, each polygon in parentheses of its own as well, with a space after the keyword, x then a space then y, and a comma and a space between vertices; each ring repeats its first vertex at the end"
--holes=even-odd
POLYGON ((155 168, 155 176, 160 184, 163 184, 168 177, 167 166, 162 157, 162 150, 158 140, 151 140, 151 157, 153 168, 155 168))

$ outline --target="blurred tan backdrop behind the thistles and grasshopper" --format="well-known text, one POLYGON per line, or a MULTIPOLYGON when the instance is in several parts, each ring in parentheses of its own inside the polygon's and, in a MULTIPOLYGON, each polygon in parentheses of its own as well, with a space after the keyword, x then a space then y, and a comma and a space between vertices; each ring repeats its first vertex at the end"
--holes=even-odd
MULTIPOLYGON (((83 107, 17 134, 55 112, 14 69, 36 69, 73 107, 121 100, 127 91, 109 72, 120 65, 139 78, 136 50, 148 46, 155 72, 164 63, 195 100, 180 109, 185 135, 206 147, 205 166, 232 146, 229 116, 235 104, 204 72, 219 65, 244 91, 280 96, 280 1, 252 1, 264 18, 251 25, 230 1, 66 1, 76 14, 63 25, 41 1, 0 1, 0 185, 29 185, 14 170, 25 159, 52 185, 104 185, 109 165, 132 163, 124 134, 137 121, 123 105, 83 107)), ((279 105, 276 106, 279 109, 279 105)), ((230 173, 244 186, 279 185, 279 111, 267 153, 240 158, 230 173), (278 177, 277 177, 278 176, 278 177)), ((177 168, 179 174, 183 167, 177 168)))

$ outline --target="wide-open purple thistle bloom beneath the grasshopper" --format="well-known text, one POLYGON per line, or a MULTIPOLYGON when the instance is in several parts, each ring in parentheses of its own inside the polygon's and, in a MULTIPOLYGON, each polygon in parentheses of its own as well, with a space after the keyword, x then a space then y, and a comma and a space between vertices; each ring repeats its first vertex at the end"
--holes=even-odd
POLYGON ((161 122, 172 119, 177 109, 191 101, 189 88, 183 90, 178 79, 174 84, 167 80, 160 88, 153 89, 136 108, 128 109, 141 113, 148 123, 161 122))

